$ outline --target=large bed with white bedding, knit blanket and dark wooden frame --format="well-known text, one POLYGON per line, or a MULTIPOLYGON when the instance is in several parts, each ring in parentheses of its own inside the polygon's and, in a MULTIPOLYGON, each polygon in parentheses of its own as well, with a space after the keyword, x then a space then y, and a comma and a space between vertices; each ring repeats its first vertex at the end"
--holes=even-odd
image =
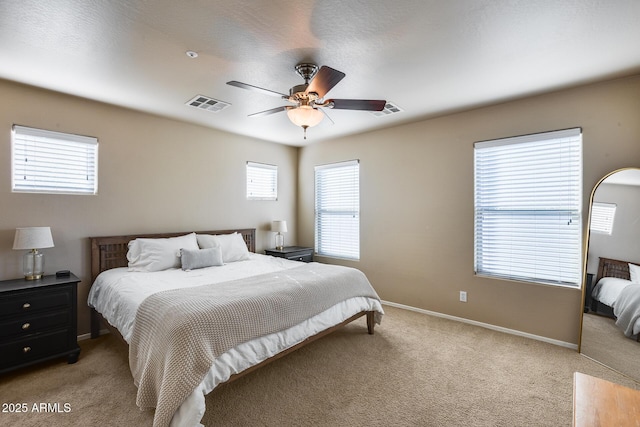
POLYGON ((218 385, 384 314, 359 270, 256 254, 255 229, 90 240, 91 336, 103 324, 128 345, 154 426, 200 425, 218 385))

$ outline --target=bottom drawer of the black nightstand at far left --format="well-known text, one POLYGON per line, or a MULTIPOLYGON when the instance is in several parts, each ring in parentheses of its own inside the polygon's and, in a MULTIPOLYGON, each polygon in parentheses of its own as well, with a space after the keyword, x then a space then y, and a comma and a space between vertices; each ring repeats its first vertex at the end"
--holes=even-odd
POLYGON ((64 329, 0 344, 0 370, 67 351, 69 334, 64 329))

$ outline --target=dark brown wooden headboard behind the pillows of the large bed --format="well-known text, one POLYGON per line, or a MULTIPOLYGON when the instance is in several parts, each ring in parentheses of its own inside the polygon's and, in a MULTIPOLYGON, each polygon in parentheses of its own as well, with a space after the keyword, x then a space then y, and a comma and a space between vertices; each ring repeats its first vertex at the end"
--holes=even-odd
MULTIPOLYGON (((213 230, 213 231, 196 231, 197 234, 231 234, 240 233, 247 244, 250 252, 256 251, 256 229, 242 228, 237 230, 213 230)), ((98 274, 105 270, 117 267, 127 266, 127 251, 129 250, 129 242, 138 237, 144 238, 167 238, 177 237, 189 234, 189 232, 181 231, 176 233, 160 233, 160 234, 129 234, 125 236, 104 236, 90 237, 91 240, 91 283, 96 280, 98 274)))

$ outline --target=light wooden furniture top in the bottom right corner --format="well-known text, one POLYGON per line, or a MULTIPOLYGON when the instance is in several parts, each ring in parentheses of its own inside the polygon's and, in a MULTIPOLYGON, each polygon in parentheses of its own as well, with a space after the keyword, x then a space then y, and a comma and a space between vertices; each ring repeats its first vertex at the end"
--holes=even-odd
POLYGON ((640 426, 640 390, 576 372, 573 426, 640 426))

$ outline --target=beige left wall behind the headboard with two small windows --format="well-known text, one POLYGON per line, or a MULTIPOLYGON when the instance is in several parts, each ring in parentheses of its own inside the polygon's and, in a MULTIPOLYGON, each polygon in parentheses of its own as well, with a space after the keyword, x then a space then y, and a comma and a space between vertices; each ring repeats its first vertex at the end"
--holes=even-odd
POLYGON ((262 250, 273 246, 270 222, 286 219, 287 242, 296 240, 297 148, 2 80, 0 99, 0 280, 22 273, 15 228, 51 226, 45 272, 82 279, 79 333, 89 330, 90 236, 255 227, 262 250), (12 193, 13 124, 97 137, 98 194, 12 193), (278 201, 246 200, 247 160, 278 166, 278 201))

